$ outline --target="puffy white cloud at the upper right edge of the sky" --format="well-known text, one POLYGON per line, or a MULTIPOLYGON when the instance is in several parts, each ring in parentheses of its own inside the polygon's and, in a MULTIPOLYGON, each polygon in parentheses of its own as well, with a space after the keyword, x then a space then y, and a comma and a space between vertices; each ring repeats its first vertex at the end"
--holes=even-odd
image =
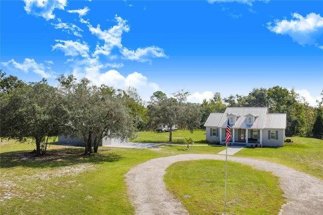
POLYGON ((267 23, 267 28, 277 34, 289 35, 301 45, 315 45, 322 49, 316 39, 323 35, 323 17, 319 14, 310 13, 306 17, 294 13, 294 19, 275 20, 275 23, 267 23))

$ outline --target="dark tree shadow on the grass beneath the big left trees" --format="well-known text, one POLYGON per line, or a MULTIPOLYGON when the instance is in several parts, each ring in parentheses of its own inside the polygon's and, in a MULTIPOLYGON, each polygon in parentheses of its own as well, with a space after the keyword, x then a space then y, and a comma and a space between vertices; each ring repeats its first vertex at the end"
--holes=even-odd
POLYGON ((84 155, 83 148, 59 148, 47 151, 47 154, 35 157, 30 151, 14 151, 0 153, 1 168, 30 167, 53 168, 66 167, 77 164, 100 164, 105 162, 117 162, 122 155, 99 150, 97 154, 84 155))

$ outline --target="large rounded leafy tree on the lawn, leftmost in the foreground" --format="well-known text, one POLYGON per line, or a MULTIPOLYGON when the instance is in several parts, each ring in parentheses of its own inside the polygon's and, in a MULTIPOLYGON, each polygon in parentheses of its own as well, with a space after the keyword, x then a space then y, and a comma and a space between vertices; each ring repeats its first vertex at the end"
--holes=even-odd
POLYGON ((62 99, 46 79, 11 89, 1 99, 1 136, 19 141, 32 138, 36 154, 44 154, 48 137, 57 136, 67 123, 62 99))

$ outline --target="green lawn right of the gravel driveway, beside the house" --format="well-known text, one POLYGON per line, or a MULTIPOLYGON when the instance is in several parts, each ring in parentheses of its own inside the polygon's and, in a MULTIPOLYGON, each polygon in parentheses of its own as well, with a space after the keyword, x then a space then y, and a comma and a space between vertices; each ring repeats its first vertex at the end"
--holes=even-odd
POLYGON ((244 148, 235 156, 255 157, 292 167, 323 180, 323 140, 291 137, 279 148, 244 148))

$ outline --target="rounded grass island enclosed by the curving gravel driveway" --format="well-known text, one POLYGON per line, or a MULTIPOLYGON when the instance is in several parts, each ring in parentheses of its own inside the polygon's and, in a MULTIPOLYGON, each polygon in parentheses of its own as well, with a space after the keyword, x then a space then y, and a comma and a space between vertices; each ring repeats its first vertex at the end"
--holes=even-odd
MULTIPOLYGON (((190 214, 223 214, 225 162, 178 162, 166 171, 167 188, 190 214)), ((278 177, 228 162, 227 213, 278 214, 285 202, 278 177)))

